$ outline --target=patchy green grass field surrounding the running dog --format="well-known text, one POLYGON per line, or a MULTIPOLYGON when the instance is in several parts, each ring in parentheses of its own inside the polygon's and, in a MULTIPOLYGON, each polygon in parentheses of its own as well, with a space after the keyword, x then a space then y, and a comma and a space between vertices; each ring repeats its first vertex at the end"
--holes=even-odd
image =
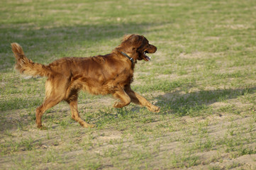
POLYGON ((256 169, 256 1, 1 0, 0 169, 256 169), (161 107, 113 108, 79 94, 43 115, 46 78, 13 69, 11 42, 33 62, 105 55, 123 35, 157 52, 135 66, 132 88, 161 107))

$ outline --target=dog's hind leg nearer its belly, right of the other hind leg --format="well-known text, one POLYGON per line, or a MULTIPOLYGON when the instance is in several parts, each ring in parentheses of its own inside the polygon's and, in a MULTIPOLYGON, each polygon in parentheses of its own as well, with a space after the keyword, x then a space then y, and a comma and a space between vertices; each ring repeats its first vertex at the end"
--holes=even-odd
POLYGON ((67 103, 69 103, 72 119, 76 120, 84 128, 94 128, 94 125, 86 123, 84 120, 82 120, 82 118, 80 118, 80 115, 77 109, 77 98, 78 98, 77 90, 72 90, 70 91, 68 98, 65 100, 67 101, 67 103))

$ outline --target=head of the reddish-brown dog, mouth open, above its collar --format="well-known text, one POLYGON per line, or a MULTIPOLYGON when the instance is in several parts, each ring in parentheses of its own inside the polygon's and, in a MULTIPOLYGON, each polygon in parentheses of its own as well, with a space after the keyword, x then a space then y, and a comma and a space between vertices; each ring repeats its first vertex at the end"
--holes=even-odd
POLYGON ((157 51, 157 47, 150 45, 147 38, 143 35, 125 35, 120 46, 131 55, 130 57, 133 57, 135 60, 145 60, 146 62, 150 61, 150 57, 146 54, 157 51))

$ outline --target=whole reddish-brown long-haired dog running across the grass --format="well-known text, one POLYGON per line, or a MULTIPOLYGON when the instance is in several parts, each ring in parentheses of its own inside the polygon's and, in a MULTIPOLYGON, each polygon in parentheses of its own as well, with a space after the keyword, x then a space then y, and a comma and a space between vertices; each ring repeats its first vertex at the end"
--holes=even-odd
POLYGON ((17 43, 12 43, 11 47, 16 57, 15 68, 19 72, 33 77, 48 77, 45 82, 45 100, 36 109, 38 128, 43 128, 43 113, 60 101, 69 103, 72 118, 82 127, 93 127, 94 125, 86 123, 79 116, 77 98, 80 89, 90 94, 112 94, 120 100, 114 103, 115 108, 122 108, 133 102, 147 107, 149 111, 160 111, 159 107, 130 89, 137 60, 148 61, 150 58, 145 53, 154 53, 157 50, 143 35, 125 35, 121 45, 108 55, 64 57, 48 65, 29 60, 17 43))

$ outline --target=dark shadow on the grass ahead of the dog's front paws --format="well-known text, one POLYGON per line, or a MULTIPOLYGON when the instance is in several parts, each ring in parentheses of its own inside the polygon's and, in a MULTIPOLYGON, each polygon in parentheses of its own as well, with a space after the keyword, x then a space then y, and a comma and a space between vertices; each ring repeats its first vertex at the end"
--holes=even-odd
POLYGON ((178 116, 201 115, 201 112, 210 111, 208 106, 216 102, 225 102, 226 100, 254 94, 256 87, 240 89, 216 89, 208 91, 196 91, 188 94, 182 91, 174 91, 164 95, 157 96, 157 106, 162 107, 162 112, 178 116))

